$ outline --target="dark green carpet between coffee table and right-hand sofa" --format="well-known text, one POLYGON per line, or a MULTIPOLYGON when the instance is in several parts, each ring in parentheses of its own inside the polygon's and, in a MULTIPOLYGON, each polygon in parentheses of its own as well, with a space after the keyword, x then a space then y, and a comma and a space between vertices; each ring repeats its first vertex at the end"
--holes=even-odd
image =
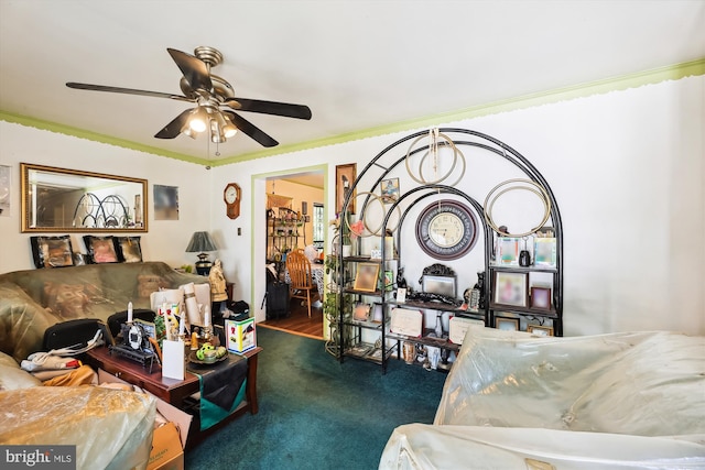
POLYGON ((259 413, 185 456, 197 469, 376 469, 392 430, 432 423, 446 374, 403 361, 340 364, 321 340, 257 330, 259 413))

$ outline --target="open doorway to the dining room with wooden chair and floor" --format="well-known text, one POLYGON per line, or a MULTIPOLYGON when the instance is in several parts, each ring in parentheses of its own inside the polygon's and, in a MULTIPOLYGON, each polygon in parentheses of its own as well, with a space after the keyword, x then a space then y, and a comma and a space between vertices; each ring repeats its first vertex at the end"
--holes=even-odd
MULTIPOLYGON (((295 240, 288 241, 285 248, 286 251, 295 248, 305 249, 308 245, 313 245, 314 241, 319 241, 314 240, 314 238, 319 238, 319 234, 315 233, 316 230, 314 228, 314 222, 318 222, 317 229, 319 232, 319 218, 321 215, 325 218, 326 211, 314 211, 314 207, 324 205, 325 208, 325 204, 327 201, 326 182, 327 165, 293 168, 285 172, 253 176, 253 183, 257 183, 253 184, 253 188, 258 193, 254 197, 254 207, 258 207, 258 211, 261 210, 261 214, 267 214, 268 211, 273 210, 273 212, 269 212, 270 216, 272 216, 279 212, 278 206, 284 206, 285 211, 291 210, 294 214, 300 214, 304 219, 303 227, 301 227, 299 232, 300 237, 295 240), (317 220, 314 220, 314 215, 316 215, 317 220)), ((264 225, 269 223, 269 221, 267 221, 267 218, 264 220, 265 221, 262 223, 262 227, 267 227, 269 232, 269 225, 264 225)), ((325 223, 324 227, 327 227, 327 223, 325 223)), ((324 233, 327 230, 323 230, 324 233)), ((254 232, 259 232, 259 230, 256 230, 254 232)), ((270 237, 269 233, 268 237, 270 237)), ((273 252, 279 254, 279 260, 281 260, 282 256, 285 256, 285 253, 281 252, 282 247, 272 247, 271 237, 265 240, 265 243, 263 243, 262 247, 263 250, 256 249, 253 252, 254 266, 271 266, 273 264, 273 252)), ((325 241, 322 245, 322 250, 325 250, 325 241)), ((256 276, 259 274, 258 271, 261 270, 254 271, 253 274, 256 276)), ((264 271, 264 273, 265 272, 267 271, 264 271)), ((267 274, 267 276, 269 276, 269 274, 267 274)), ((280 281, 285 281, 285 273, 283 270, 278 273, 278 277, 280 281)), ((265 285, 267 282, 268 277, 262 277, 262 284, 260 284, 256 278, 256 284, 260 286, 265 285)), ((265 295, 265 288, 262 291, 262 297, 260 298, 264 298, 265 295)), ((316 295, 314 302, 312 302, 311 318, 308 318, 308 308, 302 304, 300 299, 292 298, 290 300, 290 315, 288 317, 267 319, 267 302, 264 300, 262 303, 262 318, 258 321, 258 326, 278 329, 308 338, 324 339, 325 321, 322 309, 323 293, 318 293, 318 289, 315 289, 314 292, 316 295)))

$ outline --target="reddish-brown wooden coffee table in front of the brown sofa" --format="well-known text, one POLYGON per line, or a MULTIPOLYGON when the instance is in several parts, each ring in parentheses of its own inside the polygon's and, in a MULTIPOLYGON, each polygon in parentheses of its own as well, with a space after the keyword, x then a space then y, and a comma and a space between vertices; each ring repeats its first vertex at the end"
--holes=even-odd
MULTIPOLYGON (((213 430, 220 427, 220 425, 230 422, 247 412, 250 412, 253 415, 257 414, 259 411, 259 405, 257 403, 257 358, 262 348, 258 347, 242 354, 247 358, 247 385, 242 403, 228 416, 227 419, 224 419, 207 429, 205 433, 200 433, 195 429, 196 426, 192 426, 191 429, 193 431, 188 433, 188 447, 192 447, 194 444, 202 440, 213 430)), ((110 353, 107 347, 89 350, 86 353, 84 361, 96 370, 102 369, 118 379, 147 390, 154 396, 180 409, 186 408, 186 398, 200 391, 198 375, 186 371, 184 380, 163 378, 160 365, 154 364, 150 372, 149 369, 144 368, 142 364, 122 358, 117 353, 110 353)))

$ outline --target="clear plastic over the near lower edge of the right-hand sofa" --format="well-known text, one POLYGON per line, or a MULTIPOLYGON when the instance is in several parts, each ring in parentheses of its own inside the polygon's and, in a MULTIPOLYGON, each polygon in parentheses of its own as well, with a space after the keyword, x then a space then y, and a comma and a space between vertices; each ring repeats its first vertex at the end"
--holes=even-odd
POLYGON ((703 469, 703 445, 677 438, 535 428, 410 424, 392 433, 380 469, 703 469))

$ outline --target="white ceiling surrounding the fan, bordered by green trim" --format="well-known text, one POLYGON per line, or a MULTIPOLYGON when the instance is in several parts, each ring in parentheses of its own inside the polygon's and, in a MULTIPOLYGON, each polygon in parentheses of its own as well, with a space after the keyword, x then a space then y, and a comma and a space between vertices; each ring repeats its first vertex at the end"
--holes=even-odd
POLYGON ((286 149, 701 59, 705 1, 0 0, 0 112, 204 159, 204 138, 153 138, 189 103, 65 86, 181 94, 166 47, 200 45, 236 97, 311 108, 240 112, 286 149))

